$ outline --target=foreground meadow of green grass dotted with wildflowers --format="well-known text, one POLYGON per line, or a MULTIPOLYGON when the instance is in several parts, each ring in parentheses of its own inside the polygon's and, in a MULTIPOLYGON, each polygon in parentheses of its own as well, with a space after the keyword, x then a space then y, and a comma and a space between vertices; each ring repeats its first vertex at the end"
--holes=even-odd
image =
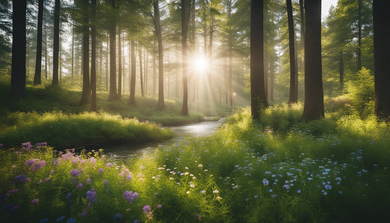
MULTIPOLYGON (((275 112, 281 118, 297 112, 269 110, 262 116, 265 122, 275 112)), ((61 155, 48 147, 26 151, 28 145, 1 150, 0 221, 61 216, 62 222, 387 221, 389 124, 358 114, 335 119, 330 112, 324 121, 292 122, 279 131, 254 123, 245 108, 211 137, 187 138, 181 146, 159 148, 124 164, 100 152, 61 155), (328 127, 313 131, 321 126, 328 127), (39 161, 27 166, 29 159, 39 161), (42 160, 45 166, 34 171, 42 160), (79 175, 72 176, 73 169, 79 175), (21 174, 29 180, 15 181, 21 174), (125 191, 139 196, 129 203, 125 191)))

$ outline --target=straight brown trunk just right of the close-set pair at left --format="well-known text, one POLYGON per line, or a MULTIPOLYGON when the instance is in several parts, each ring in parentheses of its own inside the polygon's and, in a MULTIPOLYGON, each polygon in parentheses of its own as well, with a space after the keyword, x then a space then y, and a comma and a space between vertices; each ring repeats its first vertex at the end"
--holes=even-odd
MULTIPOLYGON (((115 9, 115 0, 112 0, 115 9)), ((116 19, 113 16, 110 24, 110 95, 108 100, 118 100, 117 93, 117 61, 116 61, 116 19)))

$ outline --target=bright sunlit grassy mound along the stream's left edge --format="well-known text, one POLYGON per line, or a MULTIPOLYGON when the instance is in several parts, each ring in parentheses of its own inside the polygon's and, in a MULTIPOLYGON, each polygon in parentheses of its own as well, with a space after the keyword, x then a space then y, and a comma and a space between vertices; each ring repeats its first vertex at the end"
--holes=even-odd
POLYGON ((105 112, 8 112, 2 119, 2 123, 7 124, 2 126, 0 137, 7 146, 17 146, 21 139, 70 147, 161 141, 174 136, 171 130, 161 129, 156 124, 105 112))

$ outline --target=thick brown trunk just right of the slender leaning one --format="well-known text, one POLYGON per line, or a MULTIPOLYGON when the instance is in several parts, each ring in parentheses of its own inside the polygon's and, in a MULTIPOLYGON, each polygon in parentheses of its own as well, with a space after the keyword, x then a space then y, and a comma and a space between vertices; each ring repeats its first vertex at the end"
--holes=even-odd
POLYGON ((324 117, 321 62, 321 0, 305 2, 305 104, 303 119, 324 117))

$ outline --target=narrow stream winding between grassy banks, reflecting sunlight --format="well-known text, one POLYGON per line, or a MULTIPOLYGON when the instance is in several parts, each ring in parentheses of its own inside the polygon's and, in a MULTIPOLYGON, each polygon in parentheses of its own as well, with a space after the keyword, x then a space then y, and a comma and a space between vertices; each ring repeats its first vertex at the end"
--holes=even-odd
MULTIPOLYGON (((225 121, 224 118, 221 118, 219 121, 205 121, 190 125, 170 127, 175 133, 175 137, 166 142, 161 142, 160 146, 168 145, 174 143, 174 145, 179 145, 185 136, 191 137, 200 137, 200 136, 211 136, 220 125, 225 121)), ((115 159, 131 159, 137 155, 145 155, 152 150, 158 148, 158 143, 137 143, 137 144, 128 144, 128 145, 117 145, 109 146, 104 149, 104 154, 108 157, 113 157, 115 159)))

